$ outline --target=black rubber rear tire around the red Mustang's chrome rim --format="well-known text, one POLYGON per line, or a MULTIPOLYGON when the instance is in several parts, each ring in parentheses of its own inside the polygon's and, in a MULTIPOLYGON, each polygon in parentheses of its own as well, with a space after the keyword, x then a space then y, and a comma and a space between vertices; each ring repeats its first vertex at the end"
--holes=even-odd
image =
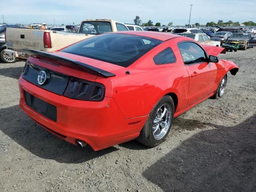
MULTIPOLYGON (((137 138, 138 142, 148 147, 158 146, 160 143, 164 142, 168 133, 170 132, 173 119, 174 119, 174 102, 172 100, 172 97, 166 95, 158 101, 158 103, 154 106, 154 108, 150 112, 148 119, 146 120, 146 123, 144 124, 142 130, 140 131, 140 135, 137 138), (169 115, 170 124, 169 126, 166 126, 166 129, 168 128, 168 130, 166 130, 166 133, 162 136, 162 138, 157 140, 153 136, 153 122, 157 116, 158 111, 163 105, 170 106, 170 115, 169 115)), ((159 130, 161 129, 159 128, 159 130)))

